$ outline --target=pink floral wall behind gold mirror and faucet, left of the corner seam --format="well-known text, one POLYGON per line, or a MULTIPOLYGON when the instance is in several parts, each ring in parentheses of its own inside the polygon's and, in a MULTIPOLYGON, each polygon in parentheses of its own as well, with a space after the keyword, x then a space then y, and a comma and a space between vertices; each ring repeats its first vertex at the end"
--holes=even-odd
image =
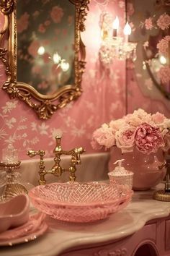
MULTIPOLYGON (((99 63, 99 15, 102 11, 124 14, 124 1, 91 0, 86 19, 86 32, 82 35, 86 45, 86 72, 82 88, 84 92, 76 102, 59 110, 52 119, 42 121, 19 100, 10 100, 0 91, 0 154, 9 142, 19 149, 19 158, 27 158, 27 149, 46 150, 53 155, 55 135, 63 132, 63 148, 68 150, 82 146, 86 153, 94 152, 91 134, 104 121, 125 114, 125 62, 115 61, 110 69, 99 63)), ((5 81, 4 67, 0 64, 0 84, 5 81)))

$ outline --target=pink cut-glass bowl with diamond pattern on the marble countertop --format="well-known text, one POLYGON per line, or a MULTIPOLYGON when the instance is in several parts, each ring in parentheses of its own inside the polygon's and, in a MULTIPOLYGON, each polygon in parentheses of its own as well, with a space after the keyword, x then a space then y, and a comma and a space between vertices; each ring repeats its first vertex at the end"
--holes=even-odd
POLYGON ((125 208, 133 192, 122 186, 91 183, 53 183, 34 187, 29 196, 42 213, 60 221, 91 222, 125 208))

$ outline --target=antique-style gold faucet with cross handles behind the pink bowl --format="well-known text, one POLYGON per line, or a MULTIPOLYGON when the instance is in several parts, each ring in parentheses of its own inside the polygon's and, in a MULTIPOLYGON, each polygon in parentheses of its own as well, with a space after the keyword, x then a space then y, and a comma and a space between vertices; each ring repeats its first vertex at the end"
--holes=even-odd
POLYGON ((29 150, 27 152, 27 155, 30 156, 30 158, 34 157, 35 155, 40 155, 40 163, 39 163, 39 184, 44 185, 46 184, 45 180, 45 175, 46 174, 53 174, 54 176, 61 176, 63 172, 69 171, 70 176, 69 180, 71 182, 74 182, 76 180, 76 164, 81 164, 81 158, 80 155, 85 152, 84 148, 73 148, 72 150, 65 151, 61 148, 61 136, 55 137, 56 139, 56 146, 55 149, 53 150, 53 153, 55 154, 54 157, 54 165, 51 168, 51 170, 45 170, 45 162, 44 162, 44 155, 45 151, 44 150, 29 150), (71 155, 71 165, 69 168, 63 168, 60 165, 61 162, 61 155, 71 155))

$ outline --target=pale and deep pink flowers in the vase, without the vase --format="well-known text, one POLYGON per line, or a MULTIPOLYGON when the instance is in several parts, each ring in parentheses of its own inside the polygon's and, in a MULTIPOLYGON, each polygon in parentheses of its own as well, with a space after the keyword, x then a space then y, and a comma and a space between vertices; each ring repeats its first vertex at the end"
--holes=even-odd
POLYGON ((91 146, 94 149, 116 146, 122 153, 137 149, 147 155, 156 153, 159 148, 167 151, 170 148, 170 119, 159 112, 148 114, 139 108, 122 119, 102 124, 94 131, 91 146))

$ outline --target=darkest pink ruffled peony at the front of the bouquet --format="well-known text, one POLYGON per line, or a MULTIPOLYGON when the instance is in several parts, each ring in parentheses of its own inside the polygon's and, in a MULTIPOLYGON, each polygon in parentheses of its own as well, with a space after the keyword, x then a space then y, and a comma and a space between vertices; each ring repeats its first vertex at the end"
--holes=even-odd
POLYGON ((148 155, 156 153, 158 148, 164 147, 165 143, 159 129, 145 123, 141 124, 135 132, 135 145, 140 152, 148 155))

